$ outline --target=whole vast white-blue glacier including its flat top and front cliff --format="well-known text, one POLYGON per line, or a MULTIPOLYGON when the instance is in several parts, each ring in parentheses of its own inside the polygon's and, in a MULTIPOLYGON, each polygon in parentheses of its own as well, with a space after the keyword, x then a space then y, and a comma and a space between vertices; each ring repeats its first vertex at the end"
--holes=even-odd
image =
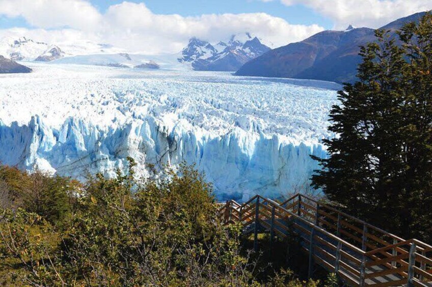
POLYGON ((26 63, 0 75, 0 162, 85 179, 114 176, 127 156, 146 177, 195 164, 220 200, 276 198, 326 157, 322 138, 335 83, 235 77, 224 72, 137 71, 26 63))

